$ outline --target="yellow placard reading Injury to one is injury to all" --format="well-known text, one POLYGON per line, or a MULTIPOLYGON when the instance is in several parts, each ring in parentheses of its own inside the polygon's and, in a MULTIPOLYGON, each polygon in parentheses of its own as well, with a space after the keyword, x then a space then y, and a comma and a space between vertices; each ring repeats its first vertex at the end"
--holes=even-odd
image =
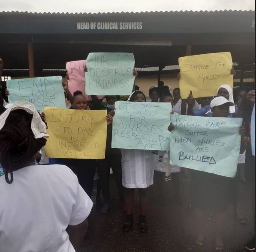
POLYGON ((45 108, 50 136, 45 155, 49 158, 105 158, 106 115, 106 110, 45 108))

